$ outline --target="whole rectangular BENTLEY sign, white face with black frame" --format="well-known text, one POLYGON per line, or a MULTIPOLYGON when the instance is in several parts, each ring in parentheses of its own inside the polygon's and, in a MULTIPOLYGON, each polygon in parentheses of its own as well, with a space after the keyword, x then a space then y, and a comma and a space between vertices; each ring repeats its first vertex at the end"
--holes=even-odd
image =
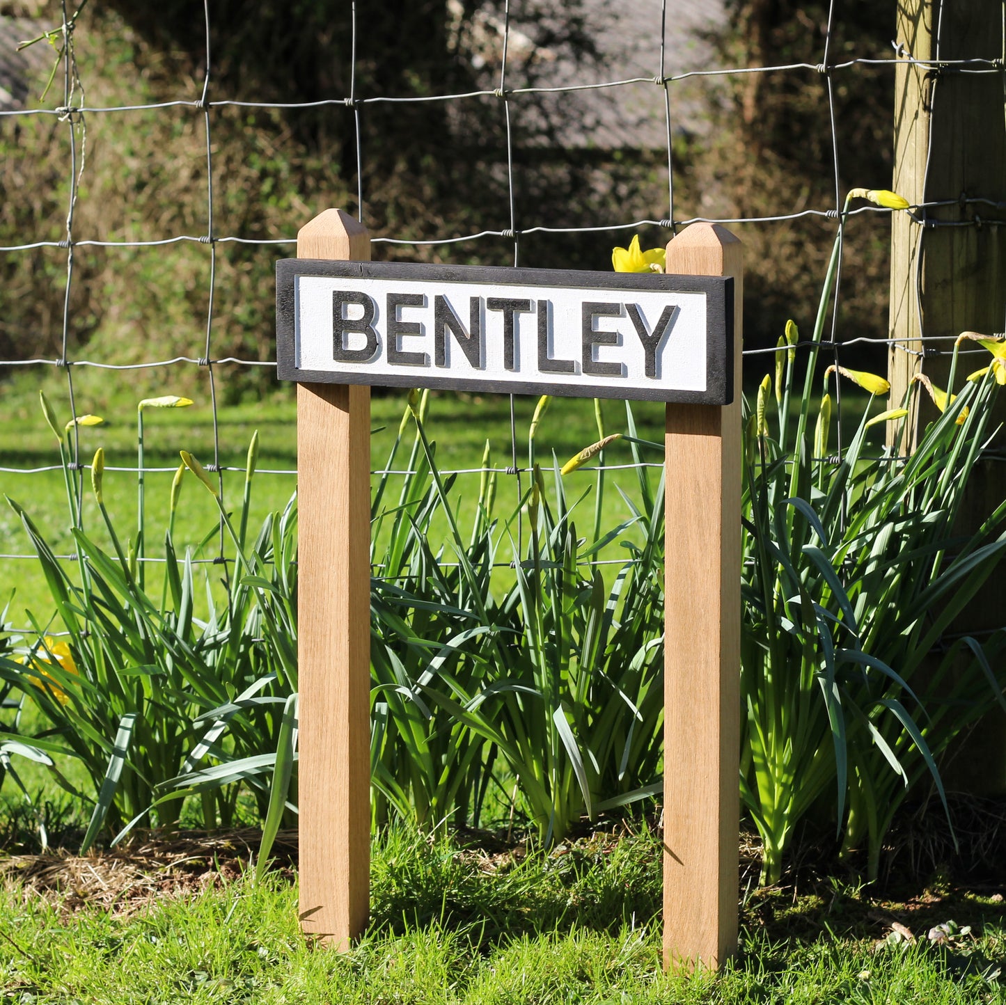
POLYGON ((297 259, 277 290, 285 379, 706 403, 731 384, 728 280, 297 259))

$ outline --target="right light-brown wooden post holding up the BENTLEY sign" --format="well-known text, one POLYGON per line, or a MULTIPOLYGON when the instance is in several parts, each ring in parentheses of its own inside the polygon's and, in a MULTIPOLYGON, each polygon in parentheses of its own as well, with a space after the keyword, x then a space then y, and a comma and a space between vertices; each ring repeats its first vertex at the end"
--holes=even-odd
POLYGON ((719 967, 737 945, 740 797, 740 241, 694 223, 667 272, 732 276, 733 403, 668 404, 664 963, 719 967))

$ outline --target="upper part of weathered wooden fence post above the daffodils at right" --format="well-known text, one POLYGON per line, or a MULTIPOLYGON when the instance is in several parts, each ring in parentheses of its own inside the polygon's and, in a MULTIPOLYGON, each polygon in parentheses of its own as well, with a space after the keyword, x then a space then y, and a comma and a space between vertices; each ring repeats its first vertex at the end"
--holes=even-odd
MULTIPOLYGON (((997 59, 1004 54, 1002 16, 998 0, 899 0, 896 37, 915 59, 936 59, 939 18, 942 60, 997 59)), ((1006 213, 963 201, 1006 201, 1002 73, 961 72, 955 66, 937 72, 904 60, 894 80, 892 188, 912 204, 952 200, 925 210, 928 220, 973 225, 924 228, 907 213, 892 214, 890 334, 908 340, 889 351, 892 408, 900 407, 915 373, 947 386, 950 356, 920 353, 952 349, 952 339, 963 331, 1000 332, 1006 314, 1006 213), (923 334, 941 341, 926 346, 917 341, 923 334)), ((984 365, 961 369, 969 373, 984 365)), ((937 415, 925 393, 911 400, 907 450, 937 415)), ((888 435, 894 433, 890 424, 888 435)))

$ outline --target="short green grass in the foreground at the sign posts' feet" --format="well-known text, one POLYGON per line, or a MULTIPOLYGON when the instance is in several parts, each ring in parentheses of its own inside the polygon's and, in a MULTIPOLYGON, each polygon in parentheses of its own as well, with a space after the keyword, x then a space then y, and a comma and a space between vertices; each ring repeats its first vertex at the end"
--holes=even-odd
MULTIPOLYGON (((492 842, 490 842, 492 843, 492 842)), ((132 911, 0 891, 0 1002, 892 1003, 1006 1001, 1004 908, 921 888, 908 902, 839 881, 762 891, 718 976, 660 969, 659 842, 594 835, 526 856, 392 830, 375 840, 371 926, 351 953, 318 950, 297 925, 295 877, 220 878, 132 911), (938 949, 929 928, 973 934, 938 949), (900 919, 918 942, 885 939, 900 919)), ((94 863, 101 869, 101 862, 94 863)), ((67 891, 72 895, 72 891, 67 891)))

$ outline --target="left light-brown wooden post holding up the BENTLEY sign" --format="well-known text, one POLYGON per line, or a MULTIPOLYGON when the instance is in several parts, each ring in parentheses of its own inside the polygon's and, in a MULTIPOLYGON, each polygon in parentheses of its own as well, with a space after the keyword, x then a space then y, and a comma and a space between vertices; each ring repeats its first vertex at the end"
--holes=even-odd
MULTIPOLYGON (((326 209, 301 259, 370 261, 326 209)), ((370 898, 370 388, 297 385, 300 917, 347 950, 370 898)))

